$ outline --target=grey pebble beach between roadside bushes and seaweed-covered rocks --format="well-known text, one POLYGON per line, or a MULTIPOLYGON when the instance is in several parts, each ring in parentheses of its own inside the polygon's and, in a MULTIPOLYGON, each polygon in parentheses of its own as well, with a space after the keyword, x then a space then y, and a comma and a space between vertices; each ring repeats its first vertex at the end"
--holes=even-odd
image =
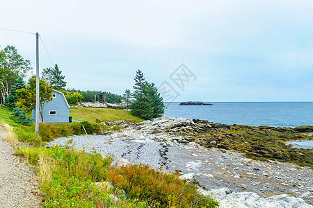
MULTIPOLYGON (((163 171, 179 170, 182 178, 191 180, 205 191, 213 191, 209 194, 215 194, 217 200, 223 200, 225 196, 216 194, 216 190, 225 189, 227 193, 249 193, 250 196, 244 196, 245 200, 251 196, 254 201, 264 200, 264 204, 259 207, 273 204, 271 202, 273 198, 275 200, 279 198, 277 201, 274 200, 278 205, 273 207, 313 205, 311 178, 313 170, 308 167, 276 161, 260 162, 246 158, 233 150, 204 148, 194 142, 182 144, 177 142, 179 139, 177 137, 147 133, 145 124, 147 121, 139 125, 140 130, 128 127, 112 135, 90 135, 93 146, 86 136, 58 138, 51 144, 64 146, 67 141, 71 141, 74 148, 85 148, 87 151, 94 148, 104 156, 113 155, 115 160, 125 158, 133 164, 143 163, 153 168, 162 167, 163 171), (254 194, 257 194, 257 198, 254 194), (280 196, 286 198, 285 204, 280 201, 280 196), (291 203, 292 200, 296 202, 291 203)), ((238 203, 230 205, 232 200, 228 200, 221 207, 241 207, 238 203)), ((253 203, 251 205, 258 207, 253 203)))

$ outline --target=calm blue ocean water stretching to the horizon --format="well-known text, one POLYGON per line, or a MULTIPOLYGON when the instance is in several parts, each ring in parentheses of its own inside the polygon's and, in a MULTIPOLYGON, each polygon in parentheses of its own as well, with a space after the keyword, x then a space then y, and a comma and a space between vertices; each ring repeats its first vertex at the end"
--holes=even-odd
POLYGON ((204 102, 213 105, 164 103, 164 116, 214 123, 296 127, 313 125, 313 102, 204 102))

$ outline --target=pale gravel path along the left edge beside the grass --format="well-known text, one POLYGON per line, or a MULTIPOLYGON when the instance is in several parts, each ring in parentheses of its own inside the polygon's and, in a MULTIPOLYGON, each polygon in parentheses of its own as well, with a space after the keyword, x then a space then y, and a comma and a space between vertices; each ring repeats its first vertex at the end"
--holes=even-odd
POLYGON ((0 126, 0 207, 40 207, 39 184, 29 166, 12 155, 14 149, 0 126))

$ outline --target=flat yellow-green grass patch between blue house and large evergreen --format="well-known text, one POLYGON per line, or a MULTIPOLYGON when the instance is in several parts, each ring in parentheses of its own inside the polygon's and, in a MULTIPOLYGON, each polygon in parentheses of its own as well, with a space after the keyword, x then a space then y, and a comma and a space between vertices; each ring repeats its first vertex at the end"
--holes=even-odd
POLYGON ((76 107, 70 109, 70 116, 74 120, 95 122, 100 121, 134 121, 141 122, 143 119, 131 115, 127 110, 115 110, 108 108, 93 108, 93 107, 76 107))

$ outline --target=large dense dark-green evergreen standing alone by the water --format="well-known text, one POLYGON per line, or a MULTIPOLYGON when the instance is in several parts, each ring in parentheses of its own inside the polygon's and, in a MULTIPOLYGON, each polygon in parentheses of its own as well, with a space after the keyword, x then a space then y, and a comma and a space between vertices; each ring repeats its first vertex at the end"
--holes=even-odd
POLYGON ((152 119, 164 112, 163 98, 157 92, 154 83, 148 83, 143 78, 143 72, 138 69, 135 77, 134 102, 131 103, 131 113, 142 119, 152 119))

